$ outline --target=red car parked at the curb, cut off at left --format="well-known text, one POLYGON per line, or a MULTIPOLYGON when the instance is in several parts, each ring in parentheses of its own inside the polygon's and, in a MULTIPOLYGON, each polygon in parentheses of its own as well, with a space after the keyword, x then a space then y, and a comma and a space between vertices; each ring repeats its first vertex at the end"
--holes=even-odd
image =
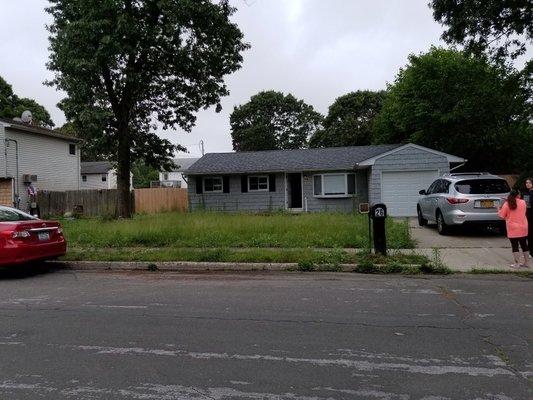
POLYGON ((0 266, 54 259, 66 251, 67 242, 58 222, 0 206, 0 266))

